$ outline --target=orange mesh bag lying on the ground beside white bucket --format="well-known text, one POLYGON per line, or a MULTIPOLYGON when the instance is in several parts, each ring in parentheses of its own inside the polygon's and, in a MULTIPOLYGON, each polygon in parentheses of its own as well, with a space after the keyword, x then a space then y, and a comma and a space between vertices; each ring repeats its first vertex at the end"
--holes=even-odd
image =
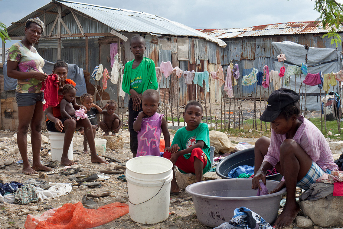
POLYGON ((47 210, 40 217, 27 215, 26 229, 85 229, 97 227, 129 213, 129 205, 111 203, 98 209, 86 209, 81 202, 67 203, 47 210))

